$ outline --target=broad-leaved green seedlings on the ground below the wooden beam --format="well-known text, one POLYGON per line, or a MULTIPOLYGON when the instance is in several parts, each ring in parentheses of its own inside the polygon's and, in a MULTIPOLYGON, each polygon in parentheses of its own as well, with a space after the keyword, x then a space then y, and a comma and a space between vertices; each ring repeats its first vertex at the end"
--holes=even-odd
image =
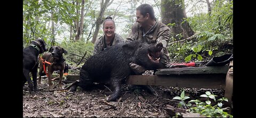
POLYGON ((185 96, 184 90, 181 92, 180 97, 174 97, 173 99, 181 100, 181 102, 178 104, 178 107, 187 106, 190 112, 192 113, 200 113, 202 115, 205 115, 207 117, 233 117, 233 115, 228 114, 227 112, 224 112, 222 107, 222 102, 226 101, 228 102, 227 98, 220 98, 217 100, 219 102, 217 105, 212 106, 211 101, 209 99, 213 99, 214 102, 216 102, 215 99, 216 95, 211 94, 211 92, 206 91, 205 94, 201 95, 200 97, 206 97, 208 98, 205 102, 201 102, 200 100, 190 100, 188 103, 185 102, 186 99, 188 99, 188 96, 185 96), (195 107, 191 107, 193 104, 196 104, 195 107), (190 107, 190 108, 189 108, 190 107))

